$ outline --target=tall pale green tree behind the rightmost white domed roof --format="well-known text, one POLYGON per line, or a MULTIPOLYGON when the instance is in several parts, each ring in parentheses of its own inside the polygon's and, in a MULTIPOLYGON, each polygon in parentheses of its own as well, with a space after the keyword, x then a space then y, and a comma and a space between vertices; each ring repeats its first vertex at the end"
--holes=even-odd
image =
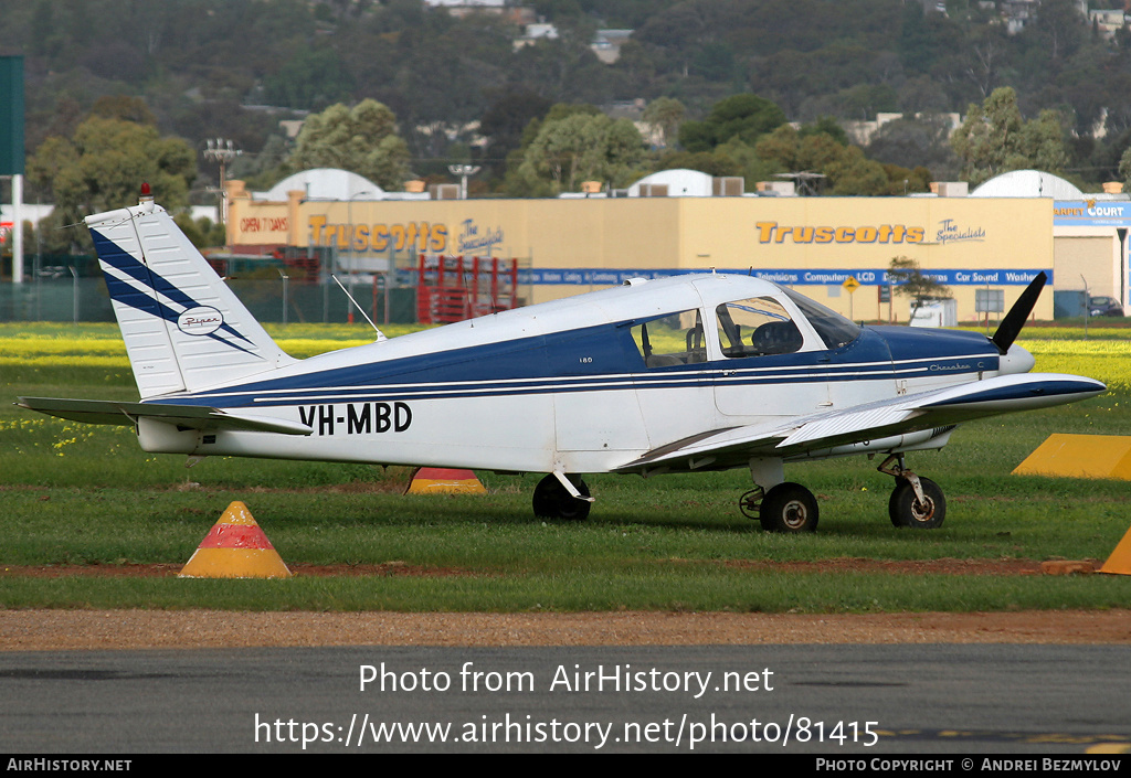
POLYGON ((981 106, 972 104, 950 144, 973 184, 1030 167, 1060 173, 1068 163, 1060 114, 1046 109, 1025 121, 1008 86, 994 89, 981 106))

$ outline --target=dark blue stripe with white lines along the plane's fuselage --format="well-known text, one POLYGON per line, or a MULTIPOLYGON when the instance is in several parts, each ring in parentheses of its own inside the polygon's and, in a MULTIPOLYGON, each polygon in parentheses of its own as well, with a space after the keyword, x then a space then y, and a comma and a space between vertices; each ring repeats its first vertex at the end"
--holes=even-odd
MULTIPOLYGON (((956 374, 988 368, 977 342, 965 349, 946 342, 942 356, 898 340, 904 358, 892 365, 884 335, 864 329, 839 349, 718 360, 647 369, 632 339, 631 322, 504 340, 380 362, 354 364, 286 379, 268 379, 162 403, 219 407, 268 407, 330 401, 517 396, 623 389, 881 380, 956 374), (912 352, 915 352, 912 354, 912 352)), ((888 329, 888 328, 884 328, 888 329)), ((903 328, 890 328, 903 329, 903 328)), ((916 332, 918 334, 918 332, 916 332)), ((957 342, 956 342, 957 343, 957 342)), ((985 338, 982 343, 986 344, 985 338)), ((992 349, 992 346, 990 346, 992 349)), ((995 352, 994 352, 995 353, 995 352)), ((994 361, 996 368, 996 361, 994 361)))

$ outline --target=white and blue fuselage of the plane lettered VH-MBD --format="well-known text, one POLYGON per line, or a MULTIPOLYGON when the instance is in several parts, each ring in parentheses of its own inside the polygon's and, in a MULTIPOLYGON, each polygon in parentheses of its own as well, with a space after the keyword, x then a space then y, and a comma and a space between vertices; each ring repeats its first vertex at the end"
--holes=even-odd
POLYGON ((139 436, 146 450, 196 456, 603 473, 708 430, 990 378, 999 360, 982 335, 905 327, 862 328, 829 348, 777 287, 700 276, 492 314, 159 398, 284 418, 309 426, 309 436, 178 431, 147 420, 139 436), (791 317, 796 351, 726 355, 715 312, 752 299, 791 317), (650 363, 633 328, 681 314, 685 323, 698 317, 698 329, 685 328, 698 345, 650 363))

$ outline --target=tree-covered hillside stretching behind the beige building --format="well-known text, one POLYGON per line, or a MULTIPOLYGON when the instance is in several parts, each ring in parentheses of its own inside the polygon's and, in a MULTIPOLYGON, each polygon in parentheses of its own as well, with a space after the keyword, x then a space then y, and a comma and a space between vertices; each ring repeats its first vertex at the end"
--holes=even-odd
POLYGON ((106 156, 122 142, 181 180, 174 201, 208 201, 214 137, 243 150, 230 173, 253 188, 330 162, 390 188, 473 163, 473 192, 510 196, 667 167, 748 187, 804 170, 831 194, 1019 165, 1095 190, 1131 167, 1131 37, 1105 40, 1071 0, 1043 0, 1017 35, 965 0, 944 15, 901 0, 527 5, 558 38, 516 49, 511 18, 418 0, 0 0, 0 46, 26 58, 29 194, 72 202, 66 218, 101 207, 141 164, 106 156), (589 49, 599 27, 634 29, 614 64, 589 49), (849 142, 845 121, 880 111, 905 119, 849 142), (953 139, 950 112, 967 115, 953 139), (283 119, 305 119, 307 137, 283 119))

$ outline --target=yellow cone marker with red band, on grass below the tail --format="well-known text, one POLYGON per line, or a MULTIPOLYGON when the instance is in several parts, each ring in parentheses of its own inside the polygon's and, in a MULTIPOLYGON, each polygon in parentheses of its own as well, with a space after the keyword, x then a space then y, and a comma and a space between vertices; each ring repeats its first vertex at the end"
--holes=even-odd
POLYGON ((200 542, 179 578, 290 578, 283 557, 239 500, 200 542))

